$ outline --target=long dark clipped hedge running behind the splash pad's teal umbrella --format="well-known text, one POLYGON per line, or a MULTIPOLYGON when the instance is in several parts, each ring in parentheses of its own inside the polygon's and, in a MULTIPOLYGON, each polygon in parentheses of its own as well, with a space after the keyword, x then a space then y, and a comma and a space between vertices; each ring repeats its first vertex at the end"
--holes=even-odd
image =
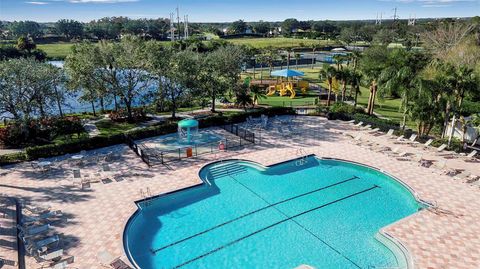
MULTIPOLYGON (((285 107, 261 108, 254 112, 238 112, 232 115, 214 115, 199 119, 200 128, 220 126, 230 123, 239 123, 245 121, 249 116, 257 117, 261 114, 268 116, 295 114, 294 110, 285 107)), ((83 138, 71 142, 63 142, 61 144, 48 144, 42 146, 28 147, 25 149, 25 154, 18 154, 0 158, 0 165, 20 162, 24 160, 35 160, 38 158, 48 158, 53 156, 60 156, 68 153, 75 153, 81 150, 92 150, 113 146, 125 143, 125 136, 130 139, 137 140, 148 137, 160 136, 175 133, 177 131, 177 123, 165 122, 160 125, 151 126, 147 128, 128 131, 125 134, 116 134, 110 136, 96 136, 90 138, 83 138), (5 161, 4 161, 5 159, 5 161)), ((0 156, 2 157, 2 156, 0 156)))

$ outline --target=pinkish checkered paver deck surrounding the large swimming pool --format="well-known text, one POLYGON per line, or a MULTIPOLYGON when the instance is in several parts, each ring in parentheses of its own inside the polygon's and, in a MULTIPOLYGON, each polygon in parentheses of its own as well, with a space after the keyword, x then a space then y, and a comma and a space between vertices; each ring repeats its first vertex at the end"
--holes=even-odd
MULTIPOLYGON (((82 190, 72 184, 72 172, 67 161, 49 172, 33 169, 29 163, 9 168, 0 177, 0 194, 15 197, 35 206, 50 206, 62 210, 67 221, 55 225, 63 247, 75 262, 69 268, 106 268, 98 254, 104 251, 114 257, 125 257, 123 230, 136 211, 135 201, 142 199, 140 190, 152 195, 201 184, 198 172, 205 164, 220 159, 245 159, 262 165, 272 165, 315 154, 338 158, 379 168, 410 186, 422 200, 434 203, 440 210, 422 210, 386 227, 385 232, 399 240, 410 252, 416 268, 480 268, 480 189, 421 167, 412 161, 399 161, 365 145, 356 145, 341 132, 363 132, 364 139, 408 152, 423 152, 430 160, 442 160, 433 150, 411 145, 394 145, 385 136, 368 134, 347 123, 327 121, 317 117, 297 117, 298 130, 304 135, 285 138, 276 130, 262 132, 262 143, 254 147, 203 155, 165 166, 148 168, 127 146, 112 147, 121 158, 110 164, 112 175, 124 180, 108 184, 95 183, 82 190)), ((275 129, 275 128, 274 128, 275 129)), ((215 130, 215 128, 213 129, 215 130)), ((223 130, 222 130, 223 131, 223 130)), ((258 138, 258 137, 257 137, 258 138)), ((447 165, 480 175, 480 163, 448 159, 447 165)), ((96 173, 98 166, 82 168, 82 173, 96 173)), ((0 244, 0 258, 10 254, 0 244)), ((27 268, 40 268, 33 258, 26 257, 27 268)), ((300 264, 299 264, 300 265, 300 264)), ((8 268, 8 267, 7 267, 8 268)))

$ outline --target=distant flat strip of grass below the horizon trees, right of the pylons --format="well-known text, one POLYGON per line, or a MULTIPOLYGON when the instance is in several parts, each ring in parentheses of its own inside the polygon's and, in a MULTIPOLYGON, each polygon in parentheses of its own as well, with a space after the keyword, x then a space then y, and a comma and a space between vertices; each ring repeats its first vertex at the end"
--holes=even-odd
POLYGON ((336 41, 328 40, 315 40, 315 39, 296 39, 296 38, 286 38, 286 37, 275 37, 275 38, 235 38, 235 39, 225 39, 236 45, 249 45, 254 48, 294 48, 294 47, 310 47, 313 44, 320 46, 335 45, 338 44, 336 41))

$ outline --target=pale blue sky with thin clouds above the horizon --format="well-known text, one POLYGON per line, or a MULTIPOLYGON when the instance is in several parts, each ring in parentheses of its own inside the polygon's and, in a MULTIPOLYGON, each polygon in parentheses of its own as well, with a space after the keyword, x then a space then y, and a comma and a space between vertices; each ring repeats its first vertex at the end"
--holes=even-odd
POLYGON ((169 17, 177 5, 190 22, 471 17, 480 0, 0 0, 0 20, 88 22, 102 17, 169 17))

